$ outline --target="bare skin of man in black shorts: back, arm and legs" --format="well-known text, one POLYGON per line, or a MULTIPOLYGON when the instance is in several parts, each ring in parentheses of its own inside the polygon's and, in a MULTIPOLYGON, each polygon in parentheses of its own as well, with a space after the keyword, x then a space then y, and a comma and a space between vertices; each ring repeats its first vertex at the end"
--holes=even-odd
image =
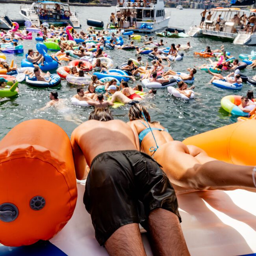
MULTIPOLYGON (((120 120, 86 121, 72 132, 71 143, 78 179, 85 178, 86 163, 91 167, 92 160, 98 154, 138 148, 137 135, 135 136, 132 129, 120 120), (97 136, 91 136, 95 132, 97 136), (113 143, 113 134, 115 143, 113 143)), ((161 208, 154 209, 149 214, 148 224, 152 244, 159 255, 189 255, 178 217, 174 213, 161 208), (170 226, 172 228, 169 228, 170 226)), ((121 226, 104 245, 110 256, 146 256, 137 223, 121 226)))

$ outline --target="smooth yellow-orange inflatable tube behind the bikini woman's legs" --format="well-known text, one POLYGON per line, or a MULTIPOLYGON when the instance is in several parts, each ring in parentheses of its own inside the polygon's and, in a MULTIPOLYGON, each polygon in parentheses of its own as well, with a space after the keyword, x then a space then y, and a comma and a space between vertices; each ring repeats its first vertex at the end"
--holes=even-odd
POLYGON ((236 165, 256 165, 256 120, 236 122, 183 141, 218 160, 236 165))

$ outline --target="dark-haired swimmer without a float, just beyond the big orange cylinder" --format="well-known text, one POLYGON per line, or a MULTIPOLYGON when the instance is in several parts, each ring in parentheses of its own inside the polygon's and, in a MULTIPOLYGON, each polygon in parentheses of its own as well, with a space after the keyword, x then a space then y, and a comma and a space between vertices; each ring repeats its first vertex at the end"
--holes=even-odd
POLYGON ((72 110, 65 105, 64 99, 58 98, 58 92, 56 91, 52 91, 50 93, 50 101, 46 103, 45 107, 40 108, 39 110, 42 111, 53 106, 58 109, 59 113, 64 115, 64 119, 66 121, 74 122, 77 125, 82 123, 82 121, 76 117, 76 115, 72 114, 72 110))

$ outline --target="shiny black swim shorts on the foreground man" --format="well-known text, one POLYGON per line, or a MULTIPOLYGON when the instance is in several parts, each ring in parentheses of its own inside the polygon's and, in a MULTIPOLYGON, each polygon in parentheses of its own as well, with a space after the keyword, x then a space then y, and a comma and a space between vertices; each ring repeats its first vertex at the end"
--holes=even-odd
POLYGON ((148 230, 148 215, 156 208, 175 213, 181 222, 169 179, 155 160, 137 150, 96 156, 87 176, 83 202, 100 245, 125 224, 141 223, 148 230))

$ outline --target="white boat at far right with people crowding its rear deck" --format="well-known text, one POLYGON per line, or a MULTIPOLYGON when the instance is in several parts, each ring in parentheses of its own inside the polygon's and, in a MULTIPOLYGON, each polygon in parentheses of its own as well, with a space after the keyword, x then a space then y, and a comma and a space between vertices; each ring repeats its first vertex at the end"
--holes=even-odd
MULTIPOLYGON (((237 7, 230 8, 215 8, 211 9, 211 19, 206 20, 204 25, 200 28, 200 26, 191 26, 188 35, 191 37, 198 36, 211 36, 211 37, 219 37, 232 41, 237 45, 256 45, 256 32, 252 32, 253 27, 247 26, 248 20, 246 20, 246 24, 240 20, 240 22, 236 21, 237 17, 240 19, 241 17, 249 17, 256 13, 256 9, 240 9, 237 7), (216 26, 217 18, 220 16, 219 27, 216 26), (236 16, 237 15, 237 16, 236 16)), ((206 13, 206 17, 208 12, 206 13)), ((255 27, 254 27, 255 29, 255 27)))

